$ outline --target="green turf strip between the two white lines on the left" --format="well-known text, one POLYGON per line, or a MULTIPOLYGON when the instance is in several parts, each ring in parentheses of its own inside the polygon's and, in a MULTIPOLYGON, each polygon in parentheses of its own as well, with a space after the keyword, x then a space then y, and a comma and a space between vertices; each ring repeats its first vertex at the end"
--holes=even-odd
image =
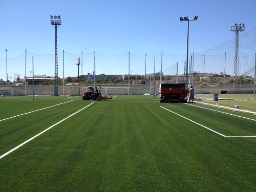
POLYGON ((3 154, 47 127, 78 111, 87 103, 73 101, 65 105, 0 122, 0 154, 3 154))

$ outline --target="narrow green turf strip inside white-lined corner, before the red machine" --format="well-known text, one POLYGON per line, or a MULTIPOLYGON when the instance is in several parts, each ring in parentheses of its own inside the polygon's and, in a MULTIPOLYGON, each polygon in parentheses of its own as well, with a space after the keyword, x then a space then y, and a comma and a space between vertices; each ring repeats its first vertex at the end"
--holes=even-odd
MULTIPOLYGON (((178 104, 178 103, 177 103, 178 104)), ((175 103, 174 103, 175 105, 175 103)), ((182 116, 198 122, 209 129, 225 136, 255 136, 256 122, 228 114, 196 108, 190 105, 180 105, 179 108, 168 108, 182 116)), ((206 130, 205 130, 206 131, 206 130)))

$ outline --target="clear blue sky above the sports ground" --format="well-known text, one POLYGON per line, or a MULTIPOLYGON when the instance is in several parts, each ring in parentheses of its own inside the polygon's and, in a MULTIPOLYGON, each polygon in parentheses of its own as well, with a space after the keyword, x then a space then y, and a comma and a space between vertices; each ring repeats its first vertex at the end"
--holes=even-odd
MULTIPOLYGON (((232 39, 234 34, 230 32, 230 26, 234 23, 244 23, 246 31, 254 29, 255 8, 255 0, 0 0, 0 78, 6 80, 5 49, 8 50, 8 58, 24 54, 25 49, 32 53, 50 54, 38 57, 33 55, 35 73, 54 75, 54 57, 51 54, 54 54, 55 34, 50 25, 50 15, 61 15, 62 20, 58 28, 60 77, 62 50, 76 53, 67 55, 70 59, 74 57, 72 61, 65 61, 67 77, 77 75, 74 62, 81 51, 85 53, 83 74, 93 71, 93 51, 114 54, 109 56, 113 58, 111 62, 115 62, 115 54, 119 53, 124 54, 121 57, 125 59, 128 51, 141 55, 141 64, 136 63, 130 69, 133 74, 144 74, 142 59, 147 53, 148 65, 151 66, 148 73, 153 72, 153 56, 157 60, 156 71, 159 71, 161 51, 166 54, 186 54, 187 23, 180 22, 180 16, 188 16, 190 19, 199 16, 197 21, 189 23, 189 50, 199 53, 232 39), (41 57, 46 58, 44 63, 41 57)), ((100 54, 96 60, 104 68, 97 67, 96 74, 127 74, 126 64, 115 67, 116 63, 108 63, 100 54)), ((14 76, 14 73, 25 76, 23 60, 15 62, 8 60, 9 76, 14 76)), ((28 58, 27 76, 31 70, 31 58, 28 58)))

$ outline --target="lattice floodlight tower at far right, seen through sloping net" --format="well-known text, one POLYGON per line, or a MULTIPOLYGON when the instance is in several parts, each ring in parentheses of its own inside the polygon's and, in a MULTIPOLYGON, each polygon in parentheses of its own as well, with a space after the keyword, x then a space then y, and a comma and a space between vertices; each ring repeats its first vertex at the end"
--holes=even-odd
POLYGON ((238 59, 238 43, 239 43, 239 32, 244 31, 245 27, 244 24, 234 24, 234 26, 231 26, 231 30, 236 33, 235 39, 235 46, 234 46, 234 81, 233 81, 233 89, 234 91, 237 91, 239 89, 238 86, 238 76, 239 76, 239 59, 238 59))

